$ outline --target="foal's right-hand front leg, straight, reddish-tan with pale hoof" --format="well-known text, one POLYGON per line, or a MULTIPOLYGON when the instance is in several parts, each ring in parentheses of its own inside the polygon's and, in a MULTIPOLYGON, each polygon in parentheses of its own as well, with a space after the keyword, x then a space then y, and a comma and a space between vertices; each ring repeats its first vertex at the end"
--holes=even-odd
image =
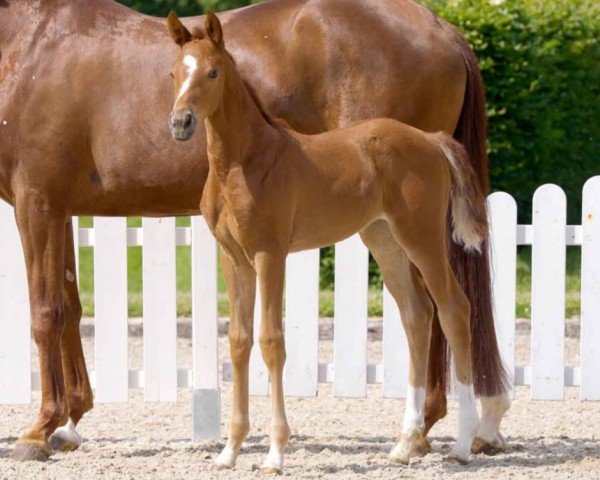
POLYGON ((290 438, 283 400, 283 366, 286 356, 282 329, 285 253, 261 252, 255 256, 254 263, 262 306, 260 348, 271 378, 271 447, 261 466, 261 472, 281 474, 283 452, 290 438))

